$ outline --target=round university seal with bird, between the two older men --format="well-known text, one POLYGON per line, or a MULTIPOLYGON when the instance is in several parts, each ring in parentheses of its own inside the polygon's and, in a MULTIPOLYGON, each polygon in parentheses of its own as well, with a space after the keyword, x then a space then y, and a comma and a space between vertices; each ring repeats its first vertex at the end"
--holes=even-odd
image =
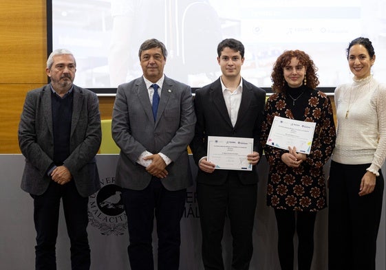
POLYGON ((127 232, 127 216, 120 199, 121 190, 114 182, 114 177, 101 179, 102 188, 89 196, 89 223, 107 236, 119 236, 127 232))

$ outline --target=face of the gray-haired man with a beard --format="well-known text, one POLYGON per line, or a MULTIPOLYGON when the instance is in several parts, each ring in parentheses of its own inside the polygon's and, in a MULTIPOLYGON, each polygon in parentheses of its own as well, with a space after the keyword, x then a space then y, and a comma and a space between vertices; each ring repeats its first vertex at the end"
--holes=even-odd
POLYGON ((58 54, 52 58, 52 67, 45 69, 47 76, 51 79, 52 88, 58 93, 65 93, 72 87, 74 82, 76 64, 71 54, 58 54))

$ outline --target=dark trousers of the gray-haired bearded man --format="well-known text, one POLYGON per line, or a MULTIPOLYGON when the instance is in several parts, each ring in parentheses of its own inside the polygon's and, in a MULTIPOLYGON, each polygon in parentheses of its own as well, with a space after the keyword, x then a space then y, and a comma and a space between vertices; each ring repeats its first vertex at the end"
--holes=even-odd
POLYGON ((31 196, 34 198, 36 270, 56 269, 55 245, 61 199, 71 244, 72 270, 88 270, 90 268, 90 249, 87 239, 88 197, 84 198, 78 193, 73 180, 65 185, 52 181, 42 195, 31 196))

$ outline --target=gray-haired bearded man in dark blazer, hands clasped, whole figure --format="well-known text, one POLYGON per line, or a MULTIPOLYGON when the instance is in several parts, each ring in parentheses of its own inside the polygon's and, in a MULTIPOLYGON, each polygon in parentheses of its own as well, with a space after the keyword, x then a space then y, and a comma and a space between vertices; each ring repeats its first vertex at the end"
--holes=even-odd
POLYGON ((19 124, 25 156, 21 188, 34 199, 36 269, 56 269, 60 201, 71 243, 72 269, 89 269, 88 196, 100 188, 98 97, 73 85, 76 61, 56 49, 45 69, 51 83, 27 93, 19 124))

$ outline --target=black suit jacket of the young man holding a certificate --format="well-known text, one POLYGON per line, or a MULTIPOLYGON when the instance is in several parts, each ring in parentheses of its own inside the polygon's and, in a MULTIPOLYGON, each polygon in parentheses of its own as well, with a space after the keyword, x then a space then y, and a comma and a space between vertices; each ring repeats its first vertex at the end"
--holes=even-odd
MULTIPOLYGON (((248 137, 254 139, 253 150, 261 156, 259 144, 261 123, 264 115, 266 92, 243 79, 242 101, 233 127, 226 109, 220 78, 195 92, 194 104, 197 122, 191 150, 195 163, 207 155, 208 136, 248 137)), ((221 185, 226 181, 228 170, 215 170, 206 173, 198 170, 197 182, 221 185)), ((257 183, 257 171, 239 171, 239 180, 244 184, 257 183)))

